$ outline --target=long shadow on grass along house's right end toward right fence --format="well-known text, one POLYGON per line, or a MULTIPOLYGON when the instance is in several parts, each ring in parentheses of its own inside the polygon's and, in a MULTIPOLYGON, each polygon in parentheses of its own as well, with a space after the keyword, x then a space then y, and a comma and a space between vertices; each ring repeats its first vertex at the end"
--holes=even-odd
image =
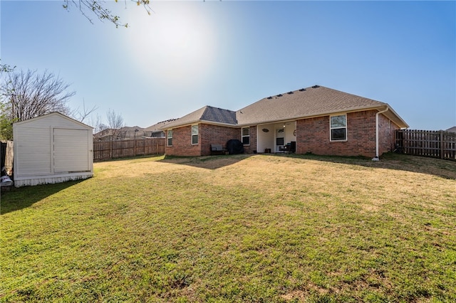
POLYGON ((456 179, 456 161, 425 156, 386 153, 380 156, 380 161, 372 161, 372 159, 362 156, 318 156, 314 154, 291 154, 286 156, 372 168, 412 171, 420 174, 439 176, 444 179, 456 179))

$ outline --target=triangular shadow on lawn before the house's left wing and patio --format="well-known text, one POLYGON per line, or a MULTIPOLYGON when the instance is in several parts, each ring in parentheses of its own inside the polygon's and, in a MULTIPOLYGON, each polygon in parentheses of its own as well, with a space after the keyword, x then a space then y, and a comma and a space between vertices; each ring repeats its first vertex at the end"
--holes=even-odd
POLYGON ((227 154, 219 156, 165 156, 160 162, 182 164, 200 169, 219 169, 249 158, 253 154, 227 154))

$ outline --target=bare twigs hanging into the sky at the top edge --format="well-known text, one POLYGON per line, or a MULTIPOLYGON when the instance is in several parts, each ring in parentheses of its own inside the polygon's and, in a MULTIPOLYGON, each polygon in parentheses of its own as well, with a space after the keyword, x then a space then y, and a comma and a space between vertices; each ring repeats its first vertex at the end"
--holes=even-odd
MULTIPOLYGON (((122 23, 120 22, 120 17, 115 16, 111 13, 109 9, 106 9, 105 6, 100 4, 100 0, 63 0, 63 9, 66 9, 67 11, 70 10, 71 7, 76 7, 81 11, 81 14, 85 16, 90 23, 93 23, 92 18, 90 18, 89 14, 95 15, 98 20, 100 21, 105 21, 108 20, 112 23, 114 23, 115 27, 117 28, 118 26, 123 26, 123 27, 128 27, 128 23, 122 23)), ((150 0, 130 0, 134 1, 138 6, 142 5, 144 6, 145 11, 147 11, 147 14, 150 14, 150 0)), ((118 2, 118 0, 115 0, 115 2, 118 2)), ((127 5, 127 0, 125 0, 125 7, 127 5)))

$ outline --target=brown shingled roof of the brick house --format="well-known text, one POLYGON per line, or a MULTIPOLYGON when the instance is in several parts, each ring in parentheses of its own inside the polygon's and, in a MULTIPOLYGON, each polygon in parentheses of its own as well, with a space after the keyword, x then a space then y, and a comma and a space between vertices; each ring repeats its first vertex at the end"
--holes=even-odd
POLYGON ((388 118, 401 128, 408 124, 385 102, 375 101, 366 97, 348 94, 328 87, 314 85, 283 94, 265 97, 252 105, 235 112, 216 107, 202 107, 170 124, 163 129, 182 126, 202 121, 247 126, 279 122, 287 119, 301 119, 331 115, 339 112, 357 112, 361 110, 383 110, 388 118))

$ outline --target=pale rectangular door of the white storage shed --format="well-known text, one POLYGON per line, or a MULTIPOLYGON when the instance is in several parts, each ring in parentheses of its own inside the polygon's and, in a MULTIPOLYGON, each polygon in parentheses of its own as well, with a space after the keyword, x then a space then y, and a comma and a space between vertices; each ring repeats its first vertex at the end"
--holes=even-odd
POLYGON ((88 130, 54 129, 54 172, 90 171, 88 130))

